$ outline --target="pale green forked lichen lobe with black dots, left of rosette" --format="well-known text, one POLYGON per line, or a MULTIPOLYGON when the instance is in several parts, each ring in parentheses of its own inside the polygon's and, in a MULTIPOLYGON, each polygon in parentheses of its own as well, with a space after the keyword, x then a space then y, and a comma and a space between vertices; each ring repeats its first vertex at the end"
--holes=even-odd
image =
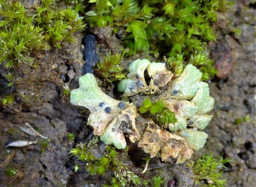
POLYGON ((133 104, 110 98, 101 91, 91 73, 80 77, 79 85, 78 89, 71 91, 70 102, 90 110, 88 125, 93 127, 94 134, 100 136, 105 144, 113 143, 118 149, 126 147, 124 134, 119 129, 122 121, 131 124, 131 128, 126 129, 131 142, 140 139, 135 126, 137 112, 133 104))

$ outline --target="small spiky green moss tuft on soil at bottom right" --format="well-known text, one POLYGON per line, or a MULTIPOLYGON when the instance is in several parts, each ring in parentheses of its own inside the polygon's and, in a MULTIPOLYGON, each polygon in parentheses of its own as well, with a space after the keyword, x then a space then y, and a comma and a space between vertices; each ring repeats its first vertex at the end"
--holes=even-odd
POLYGON ((196 184, 208 187, 223 187, 226 185, 226 179, 222 179, 222 171, 218 171, 218 167, 224 167, 223 164, 231 162, 230 159, 222 157, 214 158, 213 154, 204 155, 199 158, 193 165, 196 175, 196 184))

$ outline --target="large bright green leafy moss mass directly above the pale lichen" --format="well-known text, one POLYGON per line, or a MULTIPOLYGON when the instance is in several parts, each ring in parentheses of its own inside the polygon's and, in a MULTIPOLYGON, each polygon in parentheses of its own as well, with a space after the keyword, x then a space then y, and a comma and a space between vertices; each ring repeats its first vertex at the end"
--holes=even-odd
MULTIPOLYGON (((175 60, 182 55, 184 60, 176 71, 182 72, 182 64, 189 61, 203 67, 204 79, 215 75, 212 61, 196 59, 208 56, 208 41, 216 40, 211 28, 217 20, 217 11, 225 11, 226 0, 90 0, 86 21, 91 27, 113 27, 113 32, 127 33, 123 38, 126 55, 143 51, 159 57, 159 54, 175 60)), ((205 59, 205 58, 204 58, 205 59)))

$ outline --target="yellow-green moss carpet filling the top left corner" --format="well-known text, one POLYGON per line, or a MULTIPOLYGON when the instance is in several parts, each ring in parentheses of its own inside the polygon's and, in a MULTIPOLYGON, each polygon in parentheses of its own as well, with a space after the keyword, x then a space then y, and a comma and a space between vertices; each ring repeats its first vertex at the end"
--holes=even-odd
POLYGON ((18 1, 0 0, 0 64, 5 62, 5 68, 32 64, 34 53, 74 41, 74 32, 85 27, 71 8, 60 9, 54 0, 41 2, 32 13, 18 1))

